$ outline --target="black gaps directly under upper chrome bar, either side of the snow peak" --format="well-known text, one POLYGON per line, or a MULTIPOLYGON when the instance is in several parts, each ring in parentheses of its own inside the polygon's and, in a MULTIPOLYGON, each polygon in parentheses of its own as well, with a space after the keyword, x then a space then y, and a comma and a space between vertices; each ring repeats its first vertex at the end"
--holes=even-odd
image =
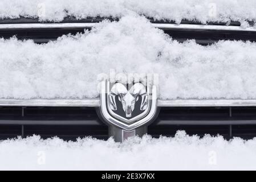
MULTIPOLYGON (((91 28, 86 28, 90 30, 91 28)), ((250 31, 220 31, 220 30, 167 30, 163 29, 178 42, 188 39, 195 39, 198 44, 207 45, 218 42, 219 40, 249 40, 256 42, 256 32, 250 31)), ((19 30, 0 30, 0 38, 9 39, 16 36, 19 40, 34 40, 35 43, 47 43, 56 40, 62 35, 76 35, 84 33, 84 28, 30 28, 19 30)))

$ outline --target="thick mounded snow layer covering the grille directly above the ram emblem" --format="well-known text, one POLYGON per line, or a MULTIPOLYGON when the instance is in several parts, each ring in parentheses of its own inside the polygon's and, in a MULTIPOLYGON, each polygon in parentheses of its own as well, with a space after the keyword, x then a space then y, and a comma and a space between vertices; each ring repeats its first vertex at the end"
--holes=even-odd
POLYGON ((158 73, 160 98, 256 98, 256 43, 178 43, 141 16, 47 44, 0 39, 0 98, 95 98, 99 75, 158 73))

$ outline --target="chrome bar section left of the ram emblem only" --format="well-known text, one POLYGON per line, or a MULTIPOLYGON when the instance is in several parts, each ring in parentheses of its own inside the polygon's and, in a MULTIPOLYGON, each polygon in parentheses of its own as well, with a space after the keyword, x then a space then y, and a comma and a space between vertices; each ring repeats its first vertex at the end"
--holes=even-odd
POLYGON ((0 100, 0 106, 97 107, 99 106, 99 100, 0 100))

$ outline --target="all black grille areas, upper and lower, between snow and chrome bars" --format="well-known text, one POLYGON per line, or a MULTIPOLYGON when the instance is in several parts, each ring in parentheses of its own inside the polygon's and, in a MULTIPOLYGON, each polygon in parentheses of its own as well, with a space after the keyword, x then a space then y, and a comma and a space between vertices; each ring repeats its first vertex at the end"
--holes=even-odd
MULTIPOLYGON (((75 20, 65 18, 60 23, 95 23, 103 18, 87 18, 75 20)), ((113 20, 113 19, 110 19, 113 20)), ((170 23, 174 22, 156 22, 170 23)), ((0 24, 40 23, 37 19, 3 19, 0 24)), ((51 22, 46 22, 51 23, 51 22)), ((198 24, 182 20, 181 24, 198 24)), ((223 23, 209 23, 225 25, 223 23)), ((239 26, 238 22, 231 22, 232 26, 239 26)), ((88 28, 90 29, 90 28, 88 28)), ((179 42, 195 39, 202 45, 212 44, 218 40, 250 40, 255 42, 254 31, 227 30, 192 30, 168 29, 162 30, 179 42)), ((1 38, 16 36, 20 40, 31 39, 35 43, 47 43, 62 35, 83 33, 84 28, 22 28, 15 30, 0 30, 1 38)), ((148 134, 153 137, 174 136, 177 130, 185 130, 189 135, 205 134, 232 137, 256 137, 256 107, 161 107, 159 116, 148 127, 148 134)), ((108 126, 105 125, 95 107, 0 107, 0 138, 27 137, 33 134, 42 138, 58 136, 63 139, 92 136, 99 139, 108 138, 108 126)))

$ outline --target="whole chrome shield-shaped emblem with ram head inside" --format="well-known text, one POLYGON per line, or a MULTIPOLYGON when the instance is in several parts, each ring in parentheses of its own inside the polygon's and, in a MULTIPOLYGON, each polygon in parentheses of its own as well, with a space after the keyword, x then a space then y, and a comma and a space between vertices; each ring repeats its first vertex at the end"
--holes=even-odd
POLYGON ((156 85, 101 82, 100 113, 111 126, 131 131, 152 121, 156 111, 156 85))

